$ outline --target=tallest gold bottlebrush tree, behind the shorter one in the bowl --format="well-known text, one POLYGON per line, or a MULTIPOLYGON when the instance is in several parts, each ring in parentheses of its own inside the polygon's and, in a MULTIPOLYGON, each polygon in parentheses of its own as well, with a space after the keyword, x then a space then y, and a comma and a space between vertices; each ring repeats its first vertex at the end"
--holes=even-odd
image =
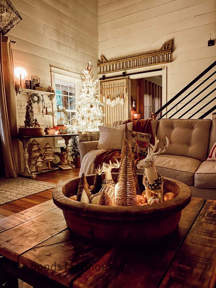
MULTIPOLYGON (((129 161, 132 161, 132 172, 134 175, 136 193, 141 194, 138 179, 137 179, 137 170, 136 170, 136 166, 134 165, 134 158, 133 158, 133 153, 132 153, 131 143, 130 143, 130 133, 128 130, 127 123, 125 123, 125 128, 124 128, 124 132, 123 132, 121 162, 124 160, 125 156, 128 157, 129 161)), ((120 169, 121 169, 121 166, 120 166, 120 169)), ((120 169, 119 169, 119 171, 120 171, 120 169)), ((120 175, 120 173, 119 173, 119 175, 120 175)), ((118 176, 118 179, 119 179, 119 176, 118 176)))

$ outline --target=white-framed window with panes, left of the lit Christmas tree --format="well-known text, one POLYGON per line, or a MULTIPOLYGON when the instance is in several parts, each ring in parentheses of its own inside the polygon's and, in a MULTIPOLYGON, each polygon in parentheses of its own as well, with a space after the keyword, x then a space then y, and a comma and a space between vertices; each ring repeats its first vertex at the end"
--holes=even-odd
MULTIPOLYGON (((80 75, 51 67, 51 79, 56 93, 53 100, 53 109, 57 110, 54 123, 66 126, 68 133, 72 133, 73 115, 76 113, 76 102, 81 88, 80 75)), ((55 147, 62 147, 64 143, 61 137, 55 138, 55 147)))

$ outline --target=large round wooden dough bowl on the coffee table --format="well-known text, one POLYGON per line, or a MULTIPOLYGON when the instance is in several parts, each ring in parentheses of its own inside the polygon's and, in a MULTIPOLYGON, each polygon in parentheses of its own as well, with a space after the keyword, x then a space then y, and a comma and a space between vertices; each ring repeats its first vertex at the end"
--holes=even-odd
MULTIPOLYGON (((89 185, 93 185, 95 175, 86 176, 89 185)), ((116 182, 118 173, 112 173, 116 182)), ((142 174, 138 174, 141 191, 142 174)), ((85 204, 68 197, 77 193, 80 177, 57 185, 53 192, 53 201, 62 209, 67 226, 73 234, 94 241, 112 243, 142 243, 162 238, 178 226, 181 210, 190 203, 190 188, 177 180, 163 177, 164 189, 175 193, 175 198, 144 206, 101 206, 85 204)))

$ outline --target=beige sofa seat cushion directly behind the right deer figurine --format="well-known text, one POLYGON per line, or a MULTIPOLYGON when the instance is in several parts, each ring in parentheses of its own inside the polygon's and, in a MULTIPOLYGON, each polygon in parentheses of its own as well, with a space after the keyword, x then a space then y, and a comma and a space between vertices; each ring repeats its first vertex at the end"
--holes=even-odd
MULTIPOLYGON (((155 166, 162 176, 179 180, 187 185, 194 185, 194 173, 201 164, 201 161, 175 155, 158 155, 155 166)), ((137 173, 143 173, 138 169, 137 173)))

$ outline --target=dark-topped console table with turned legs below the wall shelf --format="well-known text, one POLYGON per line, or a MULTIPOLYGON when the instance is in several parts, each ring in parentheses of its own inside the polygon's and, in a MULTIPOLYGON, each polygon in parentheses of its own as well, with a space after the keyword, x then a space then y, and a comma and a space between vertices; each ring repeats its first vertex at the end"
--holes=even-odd
POLYGON ((56 134, 56 135, 37 135, 37 136, 20 136, 18 135, 17 137, 14 137, 14 138, 18 138, 20 139, 20 141, 22 142, 22 145, 23 145, 23 156, 24 156, 24 159, 25 159, 25 168, 23 171, 20 171, 19 172, 19 175, 22 175, 24 177, 31 177, 31 178, 35 178, 36 175, 32 172, 30 172, 29 170, 29 165, 28 165, 28 159, 29 159, 29 153, 27 151, 27 144, 28 142, 30 141, 30 139, 32 138, 52 138, 52 137, 62 137, 64 140, 65 140, 65 146, 66 146, 66 154, 67 154, 67 160, 69 162, 69 147, 68 147, 68 144, 69 144, 69 140, 71 139, 71 137, 73 136, 79 136, 79 134, 73 134, 73 133, 67 133, 67 134, 56 134))

